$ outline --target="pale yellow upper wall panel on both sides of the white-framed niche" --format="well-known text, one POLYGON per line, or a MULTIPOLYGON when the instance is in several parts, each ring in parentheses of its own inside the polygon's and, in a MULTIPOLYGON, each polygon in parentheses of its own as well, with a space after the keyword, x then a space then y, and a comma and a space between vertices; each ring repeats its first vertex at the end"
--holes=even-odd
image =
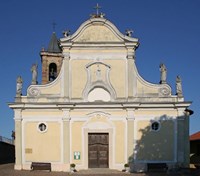
MULTIPOLYGON (((85 66, 93 60, 71 60, 71 97, 82 98, 83 90, 87 83, 87 72, 85 66)), ((125 60, 103 60, 103 63, 111 66, 110 82, 116 91, 117 97, 125 97, 126 87, 126 61, 125 60), (116 79, 116 77, 118 79, 116 79)), ((93 73, 94 70, 91 71, 93 73)))

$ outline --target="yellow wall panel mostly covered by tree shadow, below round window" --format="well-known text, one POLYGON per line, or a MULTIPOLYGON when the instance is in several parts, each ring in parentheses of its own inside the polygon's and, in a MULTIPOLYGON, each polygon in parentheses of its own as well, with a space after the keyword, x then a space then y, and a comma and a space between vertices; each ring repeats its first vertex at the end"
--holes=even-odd
POLYGON ((160 129, 152 131, 150 120, 137 122, 137 160, 173 161, 174 121, 160 121, 160 129))

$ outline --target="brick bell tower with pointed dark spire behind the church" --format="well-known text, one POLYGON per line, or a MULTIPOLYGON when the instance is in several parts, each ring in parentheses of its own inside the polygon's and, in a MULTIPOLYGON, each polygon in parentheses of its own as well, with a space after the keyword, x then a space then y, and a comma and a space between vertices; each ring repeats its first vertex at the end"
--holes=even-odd
POLYGON ((56 33, 53 32, 47 50, 40 52, 42 62, 42 84, 47 84, 55 80, 60 72, 62 65, 62 50, 56 33))

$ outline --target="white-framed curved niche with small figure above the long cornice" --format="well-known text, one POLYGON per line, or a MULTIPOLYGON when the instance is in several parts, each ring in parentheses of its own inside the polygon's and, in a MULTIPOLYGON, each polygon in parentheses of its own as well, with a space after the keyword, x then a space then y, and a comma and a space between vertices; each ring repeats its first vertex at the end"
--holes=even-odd
POLYGON ((94 61, 85 67, 87 83, 83 90, 84 101, 112 101, 116 99, 116 92, 110 82, 111 67, 103 62, 94 61), (92 96, 98 92, 104 96, 92 96))

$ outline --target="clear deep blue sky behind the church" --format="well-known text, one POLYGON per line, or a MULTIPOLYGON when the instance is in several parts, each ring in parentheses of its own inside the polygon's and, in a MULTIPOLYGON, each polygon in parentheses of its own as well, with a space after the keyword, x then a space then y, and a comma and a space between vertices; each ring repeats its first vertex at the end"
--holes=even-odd
POLYGON ((133 30, 139 74, 151 83, 160 81, 160 63, 167 67, 167 82, 175 94, 180 75, 185 101, 194 111, 190 134, 200 131, 200 1, 199 0, 2 0, 0 3, 0 136, 11 138, 16 79, 23 79, 23 95, 31 84, 31 65, 38 63, 41 82, 42 47, 47 48, 53 23, 58 38, 73 34, 95 13, 99 4, 121 33, 133 30))

